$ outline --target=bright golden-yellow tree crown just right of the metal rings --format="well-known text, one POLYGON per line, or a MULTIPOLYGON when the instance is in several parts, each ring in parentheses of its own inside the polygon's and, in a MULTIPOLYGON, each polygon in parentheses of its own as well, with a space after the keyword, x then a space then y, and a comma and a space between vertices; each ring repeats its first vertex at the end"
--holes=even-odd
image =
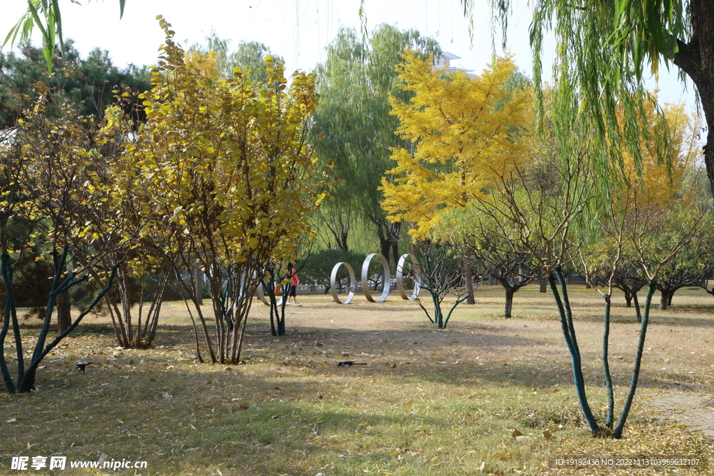
POLYGON ((406 145, 393 149, 396 167, 383 179, 382 206, 392 221, 413 224, 414 238, 427 238, 443 211, 481 196, 494 173, 528 158, 533 122, 530 88, 508 88, 516 73, 510 57, 496 58, 481 76, 433 71, 431 61, 411 52, 398 68, 409 103, 391 99, 406 145))

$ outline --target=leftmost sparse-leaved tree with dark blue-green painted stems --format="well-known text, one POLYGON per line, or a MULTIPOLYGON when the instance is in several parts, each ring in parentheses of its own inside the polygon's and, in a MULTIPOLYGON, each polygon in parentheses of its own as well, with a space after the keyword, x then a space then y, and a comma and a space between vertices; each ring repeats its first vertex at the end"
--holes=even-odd
MULTIPOLYGON (((106 196, 101 193, 87 191, 93 185, 93 161, 99 158, 99 150, 110 140, 114 130, 111 125, 104 124, 99 131, 93 131, 91 121, 80 116, 71 104, 56 105, 57 110, 50 113, 48 89, 41 83, 36 87, 39 90, 38 99, 24 111, 24 118, 19 121, 15 133, 0 146, 0 193, 3 197, 0 207, 0 269, 6 290, 0 349, 4 348, 12 323, 17 351, 16 380, 10 375, 4 353, 0 353, 0 370, 11 393, 29 392, 34 388, 39 363, 109 291, 117 268, 114 264, 111 270, 106 270, 106 285, 96 298, 66 328, 61 328, 59 335, 49 338, 51 317, 59 296, 89 281, 94 271, 101 268, 99 256, 114 251, 104 249, 91 254, 79 253, 79 248, 74 248, 72 265, 69 266, 69 242, 72 238, 84 240, 85 247, 93 238, 92 233, 85 233, 86 212, 106 201, 106 196), (19 220, 29 224, 29 232, 24 237, 15 237, 14 248, 10 238, 13 231, 19 229, 14 226, 19 220), (38 233, 39 230, 42 233, 38 233), (34 351, 26 363, 23 342, 26 343, 28 338, 24 341, 21 338, 16 315, 12 261, 31 252, 32 240, 46 241, 49 258, 36 255, 34 259, 51 260, 54 276, 34 351)), ((134 239, 134 231, 122 227, 122 223, 107 220, 103 225, 105 235, 120 236, 126 243, 134 239)))

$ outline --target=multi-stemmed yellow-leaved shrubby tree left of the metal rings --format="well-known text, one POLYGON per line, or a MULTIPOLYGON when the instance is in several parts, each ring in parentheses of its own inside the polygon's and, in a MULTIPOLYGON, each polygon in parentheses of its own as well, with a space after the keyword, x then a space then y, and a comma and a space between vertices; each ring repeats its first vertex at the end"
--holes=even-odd
POLYGON ((288 90, 282 65, 268 56, 259 88, 239 68, 221 79, 210 55, 186 61, 159 20, 166 44, 143 96, 146 124, 127 150, 162 217, 154 238, 166 256, 186 268, 197 259, 206 273, 215 340, 196 311, 211 360, 238 363, 265 266, 296 253, 297 238, 310 232, 306 214, 323 197, 304 128, 317 105, 316 76, 293 74, 288 90))

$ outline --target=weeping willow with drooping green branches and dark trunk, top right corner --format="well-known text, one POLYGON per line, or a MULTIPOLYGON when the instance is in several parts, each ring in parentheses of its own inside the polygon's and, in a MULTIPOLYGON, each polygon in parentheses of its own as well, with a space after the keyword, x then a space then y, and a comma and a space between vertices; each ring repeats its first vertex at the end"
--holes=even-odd
MULTIPOLYGON (((473 0, 462 0, 468 10, 473 0)), ((511 1, 493 2, 504 40, 511 1)), ((603 153, 600 161, 621 158, 618 148, 635 154, 645 115, 643 82, 647 66, 655 75, 671 62, 697 88, 708 124, 704 162, 714 193, 714 4, 708 1, 612 1, 574 8, 568 1, 542 0, 533 9, 531 47, 536 90, 541 85, 545 33, 553 29, 558 44, 555 84, 563 98, 582 106, 603 153), (618 109, 625 121, 618 122, 618 109), (625 147, 621 147, 621 146, 625 147), (605 150, 608 153, 604 153, 605 150)), ((559 136, 565 138, 567 125, 559 136)))

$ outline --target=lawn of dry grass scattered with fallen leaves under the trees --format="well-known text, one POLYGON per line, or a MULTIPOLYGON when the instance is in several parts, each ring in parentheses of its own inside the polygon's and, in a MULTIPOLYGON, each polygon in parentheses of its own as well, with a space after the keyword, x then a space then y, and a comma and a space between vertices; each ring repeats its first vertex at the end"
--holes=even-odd
MULTIPOLYGON (((571 298, 591 404, 603 417, 602 301, 578 287, 571 298)), ((148 470, 137 472, 145 475, 709 471, 553 462, 559 455, 684 455, 708 463, 713 442, 661 422, 648 399, 710 393, 714 298, 686 290, 672 310, 653 311, 635 408, 619 441, 590 437, 583 424, 550 295, 535 286, 519 291, 510 320, 499 317, 502 299, 499 288, 480 288, 477 305, 463 306, 437 331, 398 296, 381 304, 356 297, 347 306, 303 297, 301 307, 288 308, 284 338, 271 337, 267 308, 257 303, 246 362, 232 368, 197 363, 181 303, 164 308, 150 350, 116 348, 106 319, 90 318, 47 358, 38 391, 0 393, 0 474, 20 474, 10 469, 12 456, 53 454, 146 460, 148 470), (86 374, 74 370, 89 360, 95 364, 86 374), (340 360, 370 365, 342 369, 340 360)), ((639 330, 623 302, 615 299, 611 331, 618 410, 639 330)), ((87 471, 61 474, 96 472, 87 471)))

